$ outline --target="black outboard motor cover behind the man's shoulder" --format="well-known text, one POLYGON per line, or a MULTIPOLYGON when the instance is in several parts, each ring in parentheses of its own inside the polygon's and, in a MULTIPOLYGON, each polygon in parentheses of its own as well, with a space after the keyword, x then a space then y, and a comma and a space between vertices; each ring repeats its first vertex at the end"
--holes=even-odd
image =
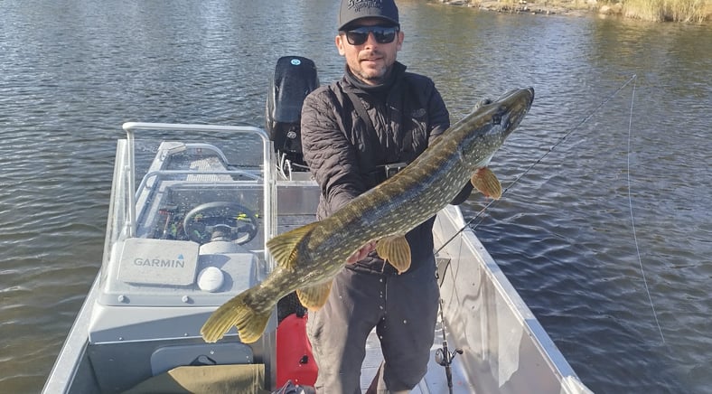
POLYGON ((267 133, 295 164, 304 164, 300 122, 304 98, 319 87, 314 61, 301 56, 284 56, 276 62, 275 77, 267 94, 267 133))

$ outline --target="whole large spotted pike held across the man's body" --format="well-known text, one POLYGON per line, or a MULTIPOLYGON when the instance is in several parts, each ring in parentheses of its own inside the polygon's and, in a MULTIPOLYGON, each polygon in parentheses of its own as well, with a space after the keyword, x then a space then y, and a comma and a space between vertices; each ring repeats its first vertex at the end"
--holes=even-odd
POLYGON ((332 216, 268 240, 276 268, 211 314, 201 328, 203 339, 216 342, 234 325, 242 342, 257 341, 277 301, 295 290, 304 306, 320 308, 347 259, 373 241, 380 258, 406 271, 406 232, 445 208, 468 179, 485 195, 501 196, 500 182, 487 164, 533 99, 534 89, 517 89, 476 107, 395 176, 332 216))

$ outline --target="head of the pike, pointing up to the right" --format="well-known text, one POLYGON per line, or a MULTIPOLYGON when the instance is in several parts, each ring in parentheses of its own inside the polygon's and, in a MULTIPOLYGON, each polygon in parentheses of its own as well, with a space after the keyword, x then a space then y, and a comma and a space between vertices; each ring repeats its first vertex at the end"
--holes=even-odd
POLYGON ((534 100, 534 89, 513 89, 492 103, 475 108, 461 120, 467 133, 463 139, 462 153, 465 162, 473 168, 489 164, 504 140, 520 125, 534 100))

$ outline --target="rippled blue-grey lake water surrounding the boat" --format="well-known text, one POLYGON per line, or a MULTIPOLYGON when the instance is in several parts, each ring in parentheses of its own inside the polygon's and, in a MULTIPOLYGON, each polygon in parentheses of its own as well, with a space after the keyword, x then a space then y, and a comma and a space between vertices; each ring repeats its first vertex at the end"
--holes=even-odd
MULTIPOLYGON (((536 89, 475 231, 580 378, 712 392, 712 26, 398 5, 398 59, 453 120, 536 89)), ((0 388, 37 392, 100 264, 121 124, 262 127, 278 57, 341 76, 338 2, 0 9, 0 388)))

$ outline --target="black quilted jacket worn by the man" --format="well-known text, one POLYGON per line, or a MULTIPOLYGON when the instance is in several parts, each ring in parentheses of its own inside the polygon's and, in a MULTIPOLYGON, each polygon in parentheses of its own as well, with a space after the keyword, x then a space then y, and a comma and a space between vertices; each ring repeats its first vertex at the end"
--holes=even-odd
MULTIPOLYGON (((383 164, 412 162, 450 126, 450 117, 433 81, 396 62, 389 81, 379 87, 359 83, 347 70, 342 80, 315 89, 304 100, 301 126, 304 160, 321 188, 317 219, 323 219, 385 180, 383 164), (348 92, 361 100, 373 128, 348 92)), ((470 191, 465 186, 454 203, 464 202, 470 191)), ((406 235, 410 270, 434 261, 433 221, 406 235)), ((390 265, 384 269, 375 252, 347 267, 395 272, 390 265)))

